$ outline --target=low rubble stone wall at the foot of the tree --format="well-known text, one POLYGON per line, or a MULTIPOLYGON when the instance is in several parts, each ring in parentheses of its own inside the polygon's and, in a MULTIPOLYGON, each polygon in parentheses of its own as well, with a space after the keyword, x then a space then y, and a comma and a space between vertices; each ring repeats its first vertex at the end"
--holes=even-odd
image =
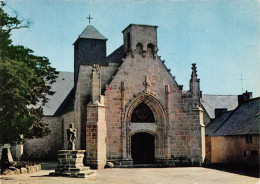
POLYGON ((3 175, 12 175, 12 174, 30 174, 33 172, 37 172, 41 170, 41 164, 36 164, 33 166, 27 166, 27 167, 21 167, 16 168, 16 167, 9 167, 3 172, 3 175))

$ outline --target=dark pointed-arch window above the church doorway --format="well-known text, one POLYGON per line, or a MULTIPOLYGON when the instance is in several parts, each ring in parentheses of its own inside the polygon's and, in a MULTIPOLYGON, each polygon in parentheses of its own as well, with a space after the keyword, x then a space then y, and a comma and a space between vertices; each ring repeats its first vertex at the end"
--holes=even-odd
POLYGON ((131 122, 138 123, 154 123, 154 115, 152 110, 145 103, 140 103, 133 111, 131 122))

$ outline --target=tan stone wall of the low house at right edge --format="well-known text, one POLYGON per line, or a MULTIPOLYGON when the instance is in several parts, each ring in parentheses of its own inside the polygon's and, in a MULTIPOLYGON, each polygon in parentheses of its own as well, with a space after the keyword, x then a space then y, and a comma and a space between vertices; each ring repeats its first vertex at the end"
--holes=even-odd
POLYGON ((211 137, 211 163, 259 164, 259 135, 211 137))

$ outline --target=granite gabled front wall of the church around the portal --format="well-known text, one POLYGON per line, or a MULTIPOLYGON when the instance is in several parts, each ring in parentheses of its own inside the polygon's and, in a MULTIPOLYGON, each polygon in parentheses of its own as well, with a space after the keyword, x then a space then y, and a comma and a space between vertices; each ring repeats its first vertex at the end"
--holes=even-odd
POLYGON ((158 118, 155 130, 151 131, 152 127, 147 125, 135 131, 159 136, 161 142, 155 153, 157 158, 188 157, 193 161, 202 161, 200 117, 199 111, 194 110, 199 105, 199 98, 182 94, 162 61, 149 52, 145 57, 141 54, 134 54, 134 57, 128 55, 105 93, 108 159, 129 158, 124 149, 127 149, 129 136, 134 132, 130 128, 126 135, 127 117, 131 115, 125 113, 133 101, 142 95, 146 97, 140 102, 150 98, 147 103, 151 104, 151 109, 154 108, 155 114, 157 112, 158 118), (146 87, 144 82, 149 85, 146 87))

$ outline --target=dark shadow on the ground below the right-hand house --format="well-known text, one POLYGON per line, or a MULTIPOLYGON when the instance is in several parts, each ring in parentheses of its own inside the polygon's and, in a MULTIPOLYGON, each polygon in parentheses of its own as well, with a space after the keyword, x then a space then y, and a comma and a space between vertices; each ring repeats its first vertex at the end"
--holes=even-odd
POLYGON ((245 176, 251 176, 259 178, 259 166, 245 166, 239 164, 212 164, 208 166, 209 169, 216 169, 219 171, 230 172, 245 176))

